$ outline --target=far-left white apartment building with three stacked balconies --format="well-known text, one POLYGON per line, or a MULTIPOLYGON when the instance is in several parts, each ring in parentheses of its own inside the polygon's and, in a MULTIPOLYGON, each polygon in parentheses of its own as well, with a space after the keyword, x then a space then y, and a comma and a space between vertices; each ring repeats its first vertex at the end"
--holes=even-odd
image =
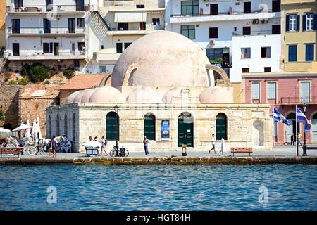
POLYGON ((22 63, 85 60, 89 0, 7 0, 6 54, 22 63))

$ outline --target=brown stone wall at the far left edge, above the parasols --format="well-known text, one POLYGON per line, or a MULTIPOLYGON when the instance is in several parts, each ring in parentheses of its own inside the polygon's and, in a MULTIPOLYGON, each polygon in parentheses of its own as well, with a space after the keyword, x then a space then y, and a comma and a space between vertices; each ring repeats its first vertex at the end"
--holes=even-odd
POLYGON ((18 98, 18 85, 0 86, 0 108, 6 113, 5 124, 11 124, 13 128, 18 127, 18 98))

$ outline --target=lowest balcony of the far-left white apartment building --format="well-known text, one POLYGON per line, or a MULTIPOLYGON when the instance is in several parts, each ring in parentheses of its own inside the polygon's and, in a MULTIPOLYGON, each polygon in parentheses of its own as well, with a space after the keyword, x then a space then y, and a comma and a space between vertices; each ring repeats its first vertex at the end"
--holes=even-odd
POLYGON ((54 53, 19 53, 19 56, 13 56, 13 53, 6 52, 5 58, 8 60, 66 60, 66 59, 85 59, 85 51, 76 51, 71 53, 70 51, 59 52, 58 54, 54 53))

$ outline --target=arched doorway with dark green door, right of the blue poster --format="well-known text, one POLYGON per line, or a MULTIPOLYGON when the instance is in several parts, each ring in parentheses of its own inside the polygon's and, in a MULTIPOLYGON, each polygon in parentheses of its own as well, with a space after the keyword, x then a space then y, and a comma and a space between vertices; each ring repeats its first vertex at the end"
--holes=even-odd
POLYGON ((178 116, 178 147, 183 143, 186 143, 187 147, 194 147, 194 118, 188 112, 178 116))

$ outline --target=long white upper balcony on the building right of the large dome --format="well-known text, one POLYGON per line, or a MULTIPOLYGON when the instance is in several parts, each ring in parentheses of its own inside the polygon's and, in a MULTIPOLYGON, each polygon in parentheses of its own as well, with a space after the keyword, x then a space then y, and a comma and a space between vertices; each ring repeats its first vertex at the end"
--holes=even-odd
POLYGON ((190 22, 210 22, 210 21, 224 21, 224 20, 255 20, 265 18, 280 18, 280 12, 273 12, 272 10, 256 10, 251 13, 244 13, 244 11, 227 11, 220 12, 217 15, 211 13, 199 13, 197 15, 170 15, 170 23, 190 23, 190 22))

